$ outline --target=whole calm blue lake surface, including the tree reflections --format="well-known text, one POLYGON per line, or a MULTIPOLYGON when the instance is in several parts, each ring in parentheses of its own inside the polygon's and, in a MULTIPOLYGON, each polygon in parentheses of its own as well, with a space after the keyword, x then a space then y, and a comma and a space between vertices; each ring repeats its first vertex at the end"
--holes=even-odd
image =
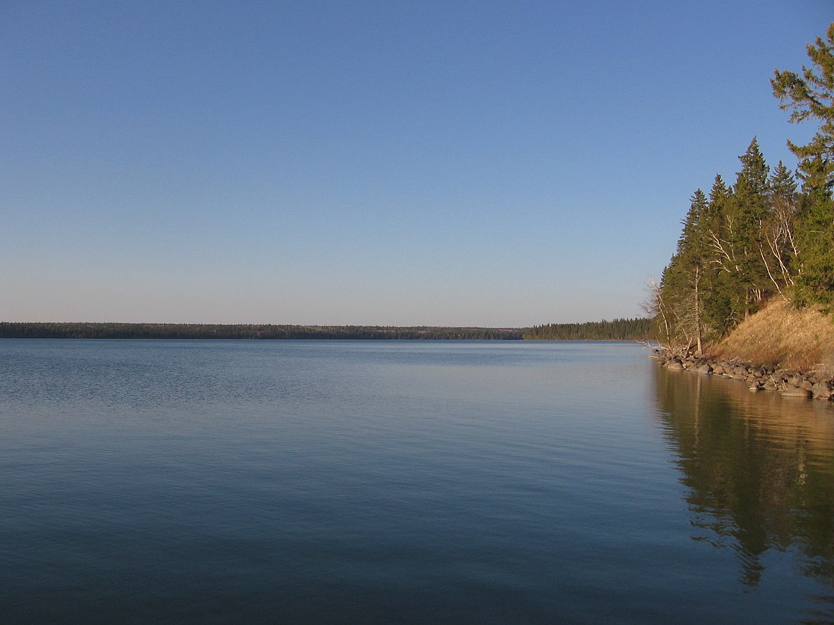
POLYGON ((0 341, 2 620, 834 620, 834 409, 648 356, 0 341))

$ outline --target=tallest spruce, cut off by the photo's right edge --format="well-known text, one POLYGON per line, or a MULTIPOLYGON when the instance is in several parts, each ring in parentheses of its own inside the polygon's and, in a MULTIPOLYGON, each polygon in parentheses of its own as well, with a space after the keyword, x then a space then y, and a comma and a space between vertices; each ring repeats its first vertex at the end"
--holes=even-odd
POLYGON ((834 309, 834 23, 826 38, 816 37, 807 46, 811 67, 796 72, 778 69, 771 79, 773 94, 790 121, 816 121, 819 126, 811 141, 796 145, 788 141, 799 158, 802 180, 801 212, 796 220, 797 262, 796 302, 819 303, 834 309))

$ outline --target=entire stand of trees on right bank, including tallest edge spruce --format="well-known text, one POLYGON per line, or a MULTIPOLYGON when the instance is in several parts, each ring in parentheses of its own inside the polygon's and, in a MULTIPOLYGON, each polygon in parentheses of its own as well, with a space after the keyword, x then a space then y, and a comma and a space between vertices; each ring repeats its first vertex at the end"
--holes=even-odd
POLYGON ((801 76, 771 80, 791 122, 819 124, 806 145, 788 142, 801 191, 784 163, 771 173, 755 137, 731 188, 719 175, 708 199, 696 191, 647 307, 669 343, 701 351, 775 296, 834 310, 834 23, 808 56, 801 76))

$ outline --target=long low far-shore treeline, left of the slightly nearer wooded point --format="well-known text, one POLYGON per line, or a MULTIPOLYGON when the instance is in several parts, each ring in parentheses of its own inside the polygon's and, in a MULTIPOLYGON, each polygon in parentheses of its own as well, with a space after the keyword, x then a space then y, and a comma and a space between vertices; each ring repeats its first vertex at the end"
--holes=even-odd
POLYGON ((11 323, 0 338, 348 338, 520 340, 524 328, 396 328, 389 326, 276 326, 200 323, 11 323))

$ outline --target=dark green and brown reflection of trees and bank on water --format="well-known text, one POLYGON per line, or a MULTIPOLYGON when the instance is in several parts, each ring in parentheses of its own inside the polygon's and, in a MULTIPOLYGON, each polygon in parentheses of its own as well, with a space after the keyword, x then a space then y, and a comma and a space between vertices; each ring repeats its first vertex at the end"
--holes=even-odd
POLYGON ((655 369, 662 426, 687 488, 692 538, 736 552, 755 591, 771 550, 796 557, 834 618, 834 406, 655 369))

